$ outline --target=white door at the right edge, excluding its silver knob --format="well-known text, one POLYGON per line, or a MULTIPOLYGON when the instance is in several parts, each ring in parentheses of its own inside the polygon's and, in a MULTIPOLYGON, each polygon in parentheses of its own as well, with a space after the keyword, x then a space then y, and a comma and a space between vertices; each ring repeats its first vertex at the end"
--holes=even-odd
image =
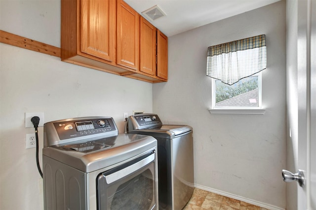
POLYGON ((316 210, 316 0, 298 0, 298 210, 316 210))

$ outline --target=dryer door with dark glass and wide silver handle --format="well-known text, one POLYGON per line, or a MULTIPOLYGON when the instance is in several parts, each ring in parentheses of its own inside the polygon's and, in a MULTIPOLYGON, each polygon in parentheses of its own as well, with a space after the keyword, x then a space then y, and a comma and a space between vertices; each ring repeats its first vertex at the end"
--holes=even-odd
POLYGON ((156 208, 155 153, 145 154, 97 177, 98 210, 156 208))

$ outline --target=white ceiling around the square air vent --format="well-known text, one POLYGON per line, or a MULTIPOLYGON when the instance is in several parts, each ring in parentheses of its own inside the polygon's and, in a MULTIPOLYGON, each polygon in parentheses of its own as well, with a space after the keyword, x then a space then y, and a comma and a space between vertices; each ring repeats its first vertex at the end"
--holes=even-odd
MULTIPOLYGON (((139 14, 158 5, 166 14, 149 21, 166 36, 192 30, 279 0, 124 0, 139 14)), ((144 16, 145 17, 145 16, 144 16)), ((146 18, 146 17, 145 17, 146 18)), ((147 18, 146 18, 147 19, 147 18)), ((147 19, 148 20, 148 19, 147 19)))

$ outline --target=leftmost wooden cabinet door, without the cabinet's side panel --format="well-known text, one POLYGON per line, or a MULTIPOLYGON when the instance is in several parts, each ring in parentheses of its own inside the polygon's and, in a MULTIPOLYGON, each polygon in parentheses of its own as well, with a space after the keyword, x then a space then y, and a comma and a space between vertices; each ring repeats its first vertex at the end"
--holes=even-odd
POLYGON ((116 1, 81 0, 81 52, 115 61, 116 1))

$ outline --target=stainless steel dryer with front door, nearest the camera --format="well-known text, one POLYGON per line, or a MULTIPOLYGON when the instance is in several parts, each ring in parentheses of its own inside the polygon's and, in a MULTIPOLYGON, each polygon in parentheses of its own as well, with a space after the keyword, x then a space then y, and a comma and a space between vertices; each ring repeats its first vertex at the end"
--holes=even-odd
POLYGON ((44 124, 45 210, 158 210, 157 140, 109 117, 44 124))

